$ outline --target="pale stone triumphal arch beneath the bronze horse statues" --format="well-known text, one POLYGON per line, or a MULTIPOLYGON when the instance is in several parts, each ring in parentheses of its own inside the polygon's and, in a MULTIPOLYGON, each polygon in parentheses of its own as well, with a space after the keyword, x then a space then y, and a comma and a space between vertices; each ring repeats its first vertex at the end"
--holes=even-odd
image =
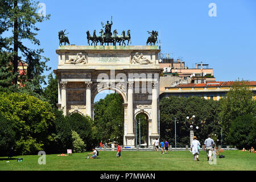
POLYGON ((123 100, 123 145, 135 144, 135 117, 148 118, 148 145, 159 138, 159 48, 157 46, 60 46, 58 107, 64 115, 93 118, 93 101, 102 90, 123 100))

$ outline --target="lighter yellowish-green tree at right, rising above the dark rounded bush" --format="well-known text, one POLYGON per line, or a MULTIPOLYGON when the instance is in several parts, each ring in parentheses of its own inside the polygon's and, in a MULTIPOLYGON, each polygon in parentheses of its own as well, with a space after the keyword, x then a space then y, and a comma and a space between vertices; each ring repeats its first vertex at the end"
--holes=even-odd
POLYGON ((246 82, 233 83, 225 98, 220 100, 220 118, 225 136, 228 136, 232 121, 240 115, 256 115, 256 101, 252 100, 253 92, 247 88, 246 82))

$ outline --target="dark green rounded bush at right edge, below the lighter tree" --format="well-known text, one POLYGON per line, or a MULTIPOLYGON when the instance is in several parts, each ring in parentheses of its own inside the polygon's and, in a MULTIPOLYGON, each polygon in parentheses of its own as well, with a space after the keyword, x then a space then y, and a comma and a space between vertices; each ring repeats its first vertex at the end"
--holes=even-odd
POLYGON ((252 114, 246 114, 234 119, 231 123, 228 141, 240 149, 255 147, 256 118, 252 114))

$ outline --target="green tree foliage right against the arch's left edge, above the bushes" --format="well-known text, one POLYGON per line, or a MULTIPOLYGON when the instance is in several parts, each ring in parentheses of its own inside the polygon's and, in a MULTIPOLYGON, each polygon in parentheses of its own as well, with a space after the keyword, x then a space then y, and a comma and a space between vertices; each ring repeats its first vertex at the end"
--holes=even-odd
POLYGON ((48 85, 44 89, 43 95, 52 107, 57 108, 58 81, 56 76, 53 78, 52 73, 48 76, 48 85))

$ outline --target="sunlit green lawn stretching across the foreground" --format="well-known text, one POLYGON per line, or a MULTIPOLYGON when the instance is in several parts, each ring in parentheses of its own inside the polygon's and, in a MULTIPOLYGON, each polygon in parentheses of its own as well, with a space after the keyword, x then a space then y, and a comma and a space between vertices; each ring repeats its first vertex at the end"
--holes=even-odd
POLYGON ((69 156, 46 155, 46 165, 39 165, 38 155, 15 156, 15 160, 0 158, 0 170, 6 171, 126 171, 126 170, 256 170, 256 154, 241 151, 224 151, 225 158, 217 158, 217 164, 207 162, 205 151, 200 151, 200 161, 194 161, 189 151, 172 151, 162 155, 155 151, 122 151, 117 159, 116 152, 101 151, 100 159, 86 159, 89 152, 69 156), (23 158, 17 162, 16 158, 23 158), (9 163, 6 163, 9 161, 9 163))

